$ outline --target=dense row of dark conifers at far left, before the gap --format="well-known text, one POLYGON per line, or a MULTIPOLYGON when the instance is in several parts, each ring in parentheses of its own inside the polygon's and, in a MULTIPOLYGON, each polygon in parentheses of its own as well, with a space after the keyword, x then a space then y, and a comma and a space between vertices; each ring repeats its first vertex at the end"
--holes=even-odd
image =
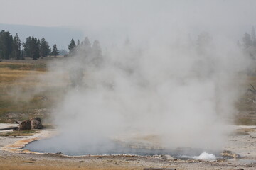
POLYGON ((18 33, 13 37, 9 31, 1 30, 0 32, 0 59, 5 60, 23 60, 25 57, 31 57, 37 60, 39 57, 49 55, 59 55, 57 45, 53 45, 51 50, 49 43, 45 38, 35 38, 29 36, 26 42, 21 42, 18 33))

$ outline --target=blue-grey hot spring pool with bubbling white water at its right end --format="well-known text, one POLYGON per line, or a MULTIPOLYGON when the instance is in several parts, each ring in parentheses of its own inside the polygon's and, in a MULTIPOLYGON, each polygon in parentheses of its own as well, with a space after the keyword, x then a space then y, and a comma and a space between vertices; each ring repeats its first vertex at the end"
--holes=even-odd
POLYGON ((81 156, 81 155, 119 155, 119 154, 132 154, 132 155, 171 155, 171 157, 177 157, 179 159, 217 159, 220 158, 220 152, 209 151, 213 154, 208 154, 208 152, 203 152, 203 149, 191 149, 191 148, 177 148, 177 149, 155 149, 154 147, 138 146, 138 147, 129 147, 122 145, 118 142, 108 141, 108 146, 105 146, 106 141, 102 141, 101 144, 95 145, 86 145, 80 146, 75 149, 68 149, 70 147, 63 147, 61 143, 55 143, 53 141, 58 141, 58 137, 53 137, 46 140, 38 140, 31 142, 26 145, 23 149, 28 149, 33 152, 41 153, 57 153, 61 152, 68 156, 81 156), (203 152, 203 153, 202 153, 203 152), (195 156, 199 155, 199 156, 195 156), (215 155, 218 155, 216 157, 215 155))

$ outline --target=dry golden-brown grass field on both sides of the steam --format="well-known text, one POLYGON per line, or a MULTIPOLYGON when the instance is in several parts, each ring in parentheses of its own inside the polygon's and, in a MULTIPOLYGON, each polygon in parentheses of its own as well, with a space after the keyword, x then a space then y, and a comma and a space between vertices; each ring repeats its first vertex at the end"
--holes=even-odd
MULTIPOLYGON (((42 79, 45 79, 43 76, 49 72, 47 62, 51 60, 0 62, 0 123, 13 123, 14 120, 25 120, 33 116, 48 118, 50 108, 61 98, 67 84, 49 84, 49 81, 47 84, 42 83, 42 79)), ((256 88, 256 76, 248 78, 245 89, 251 88, 250 84, 256 88)), ((256 125, 254 94, 245 94, 236 106, 237 125, 256 125)))

